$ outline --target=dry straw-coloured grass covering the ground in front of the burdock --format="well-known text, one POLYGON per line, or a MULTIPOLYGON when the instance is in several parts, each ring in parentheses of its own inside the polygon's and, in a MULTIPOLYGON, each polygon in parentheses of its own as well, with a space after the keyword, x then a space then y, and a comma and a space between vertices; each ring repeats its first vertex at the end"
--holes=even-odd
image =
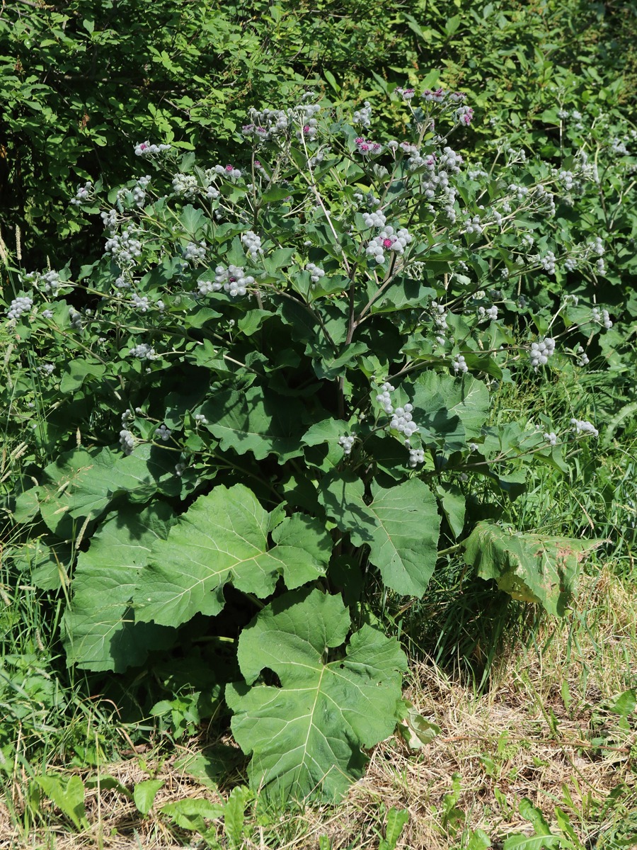
MULTIPOLYGON (((620 728, 617 715, 600 707, 613 694, 637 686, 637 599, 604 573, 587 583, 579 609, 559 625, 546 621, 530 648, 516 649, 514 657, 503 652, 485 694, 473 693, 431 663, 414 666, 406 696, 440 726, 437 738, 416 752, 402 740, 387 740, 372 753, 366 776, 339 807, 306 808, 262 826, 253 820, 245 850, 310 850, 318 847, 319 836, 329 836, 334 850, 377 847, 384 812, 391 807, 406 808, 410 815, 398 847, 464 847, 478 828, 498 846, 511 832, 530 831, 518 813, 525 796, 549 820, 555 804, 567 809, 582 842, 594 846, 608 825, 605 819, 621 816, 620 809, 606 816, 598 805, 617 785, 626 786, 637 810, 637 728, 634 722, 632 728, 620 728), (584 617, 583 610, 589 615, 584 617), (603 746, 595 745, 596 735, 605 739, 603 746), (450 803, 445 797, 454 774, 460 793, 450 803)), ((190 742, 191 748, 197 743, 190 742)), ((222 798, 176 769, 177 757, 163 765, 149 755, 144 759, 146 769, 133 756, 108 765, 104 773, 132 788, 148 779, 152 768, 156 778, 165 780, 155 813, 184 797, 222 798)), ((19 787, 14 788, 17 810, 25 803, 19 787)), ((46 834, 32 830, 25 842, 0 803, 0 848, 169 850, 183 846, 180 838, 188 841, 185 832, 157 814, 140 818, 132 801, 117 791, 87 791, 86 805, 90 833, 71 835, 49 825, 46 834)), ((219 838, 225 847, 222 825, 219 838)))

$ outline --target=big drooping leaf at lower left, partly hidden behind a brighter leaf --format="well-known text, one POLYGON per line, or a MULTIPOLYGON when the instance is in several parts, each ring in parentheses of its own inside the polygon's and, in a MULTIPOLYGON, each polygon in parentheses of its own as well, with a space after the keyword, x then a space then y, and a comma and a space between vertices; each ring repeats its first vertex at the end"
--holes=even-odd
POLYGON ((64 619, 69 665, 124 672, 143 664, 149 649, 172 644, 172 629, 136 622, 130 603, 151 547, 166 539, 173 521, 165 502, 131 506, 108 517, 80 554, 64 619))

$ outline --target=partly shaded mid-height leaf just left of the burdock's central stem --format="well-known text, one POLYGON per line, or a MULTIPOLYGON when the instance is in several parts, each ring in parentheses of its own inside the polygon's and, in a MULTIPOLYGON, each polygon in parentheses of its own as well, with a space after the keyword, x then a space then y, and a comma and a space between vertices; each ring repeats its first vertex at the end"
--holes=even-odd
POLYGON ((238 455, 250 451, 257 461, 273 453, 279 463, 303 453, 303 411, 296 399, 283 402, 259 386, 241 393, 222 389, 201 407, 206 427, 220 440, 223 451, 234 449, 238 455))

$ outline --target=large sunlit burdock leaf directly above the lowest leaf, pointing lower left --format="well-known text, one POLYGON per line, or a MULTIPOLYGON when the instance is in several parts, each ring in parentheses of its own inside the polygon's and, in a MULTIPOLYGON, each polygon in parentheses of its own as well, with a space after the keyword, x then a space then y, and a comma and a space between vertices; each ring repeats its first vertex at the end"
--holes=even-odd
POLYGON ((179 626, 198 613, 216 615, 226 582, 265 598, 279 575, 288 587, 324 575, 330 553, 318 520, 297 514, 273 528, 271 514, 243 484, 216 487, 153 547, 133 595, 136 618, 179 626), (270 530, 276 545, 268 551, 270 530))

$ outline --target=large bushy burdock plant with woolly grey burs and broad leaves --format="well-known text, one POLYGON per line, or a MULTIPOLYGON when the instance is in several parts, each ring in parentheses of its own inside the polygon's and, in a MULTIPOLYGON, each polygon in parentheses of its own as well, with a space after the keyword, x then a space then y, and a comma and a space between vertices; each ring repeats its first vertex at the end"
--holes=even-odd
POLYGON ((566 473, 596 434, 489 415, 501 382, 585 367, 609 315, 525 292, 575 255, 599 272, 603 246, 561 249, 542 161, 463 161, 462 94, 397 97, 409 138, 308 93, 252 111, 236 161, 137 144, 149 173, 110 192, 103 260, 24 275, 7 306, 32 461, 14 519, 44 586, 72 575, 69 664, 123 672, 206 636, 251 782, 279 796, 341 795, 392 734, 406 659, 379 593, 422 597, 463 541, 558 614, 577 578, 550 541, 499 557, 509 532, 471 535, 467 505, 485 481, 514 498, 531 463, 566 473))

